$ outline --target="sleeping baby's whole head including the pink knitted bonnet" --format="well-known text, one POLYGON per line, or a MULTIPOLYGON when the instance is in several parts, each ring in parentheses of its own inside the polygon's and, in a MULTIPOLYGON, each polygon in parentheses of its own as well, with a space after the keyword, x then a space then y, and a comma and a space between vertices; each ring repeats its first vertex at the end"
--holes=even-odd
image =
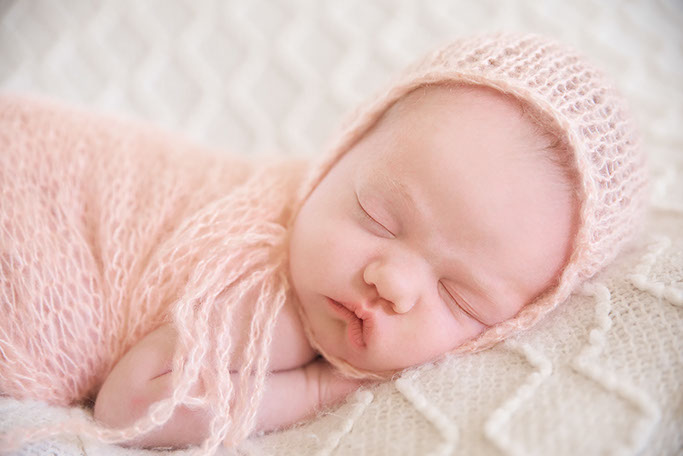
POLYGON ((618 131, 623 113, 595 108, 597 75, 581 86, 582 61, 544 73, 547 54, 568 57, 538 37, 488 40, 411 69, 356 117, 302 198, 293 288, 311 342, 347 373, 490 346, 564 300, 627 237, 619 222, 640 204, 642 166, 618 131), (592 145, 572 124, 587 121, 615 131, 592 145))

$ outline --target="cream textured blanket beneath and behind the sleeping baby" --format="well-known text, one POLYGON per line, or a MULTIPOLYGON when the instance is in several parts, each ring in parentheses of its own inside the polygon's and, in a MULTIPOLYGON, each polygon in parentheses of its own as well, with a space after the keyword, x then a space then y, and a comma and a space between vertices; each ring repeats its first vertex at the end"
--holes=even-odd
MULTIPOLYGON (((613 76, 641 123, 653 176, 647 232, 533 331, 405 373, 240 453, 674 455, 683 451, 681 29, 677 0, 0 0, 0 89, 146 119, 232 153, 313 155, 345 111, 451 37, 523 30, 574 45, 613 76)), ((0 432, 73 413, 83 412, 3 399, 0 432)), ((77 437, 23 450, 138 453, 77 437)))

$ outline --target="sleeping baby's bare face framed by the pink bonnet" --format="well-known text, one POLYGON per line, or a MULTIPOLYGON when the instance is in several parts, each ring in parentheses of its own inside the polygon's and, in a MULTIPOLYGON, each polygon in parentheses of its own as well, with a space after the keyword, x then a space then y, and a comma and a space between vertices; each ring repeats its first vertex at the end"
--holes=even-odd
POLYGON ((290 244, 315 339, 353 366, 421 364, 513 317, 568 258, 573 200, 517 105, 418 89, 316 187, 290 244))

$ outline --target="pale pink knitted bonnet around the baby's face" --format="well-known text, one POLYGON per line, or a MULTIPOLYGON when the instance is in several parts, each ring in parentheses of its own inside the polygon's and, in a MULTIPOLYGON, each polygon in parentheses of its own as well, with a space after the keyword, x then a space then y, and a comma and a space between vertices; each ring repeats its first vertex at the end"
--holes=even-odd
MULTIPOLYGON (((534 112, 534 117, 542 119, 543 128, 566 145, 578 174, 578 228, 558 284, 512 319, 455 349, 472 352, 530 328, 567 299, 577 284, 616 256, 639 226, 646 169, 624 100, 582 56, 536 35, 476 36, 428 54, 357 109, 329 154, 312 170, 294 216, 332 166, 397 100, 420 86, 444 83, 489 87, 516 98, 534 112)), ((301 314, 311 344, 321 350, 303 310, 301 314)), ((368 376, 321 353, 349 375, 368 376)))

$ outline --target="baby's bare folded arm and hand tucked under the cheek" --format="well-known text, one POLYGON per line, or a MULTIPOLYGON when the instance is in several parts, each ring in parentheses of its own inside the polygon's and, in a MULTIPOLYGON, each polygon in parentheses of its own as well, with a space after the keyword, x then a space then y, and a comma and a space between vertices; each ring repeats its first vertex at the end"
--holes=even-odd
MULTIPOLYGON (((110 427, 125 427, 145 414, 149 406, 171 394, 171 363, 176 333, 164 325, 136 344, 114 367, 95 402, 94 416, 110 427)), ((280 429, 339 402, 360 386, 357 380, 334 374, 323 360, 271 374, 257 414, 257 431, 280 429)), ((201 394, 201 385, 192 394, 201 394)), ((127 446, 186 446, 208 435, 205 410, 179 407, 162 427, 127 446)))

